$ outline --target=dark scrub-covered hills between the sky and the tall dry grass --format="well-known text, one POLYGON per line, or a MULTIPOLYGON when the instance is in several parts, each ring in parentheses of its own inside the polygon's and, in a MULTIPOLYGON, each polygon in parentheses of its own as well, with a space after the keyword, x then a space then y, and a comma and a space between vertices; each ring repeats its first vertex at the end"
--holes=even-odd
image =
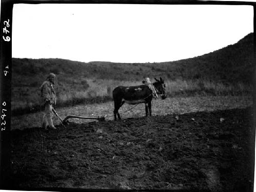
MULTIPOLYGON (((73 77, 114 80, 141 80, 142 76, 162 76, 165 79, 210 79, 226 82, 249 82, 253 63, 253 33, 237 44, 202 56, 160 63, 112 63, 93 61, 88 63, 65 59, 13 58, 13 85, 20 79, 41 81, 49 72, 67 81, 73 77), (38 78, 38 79, 37 79, 38 78)), ((77 79, 78 80, 78 79, 77 79)))

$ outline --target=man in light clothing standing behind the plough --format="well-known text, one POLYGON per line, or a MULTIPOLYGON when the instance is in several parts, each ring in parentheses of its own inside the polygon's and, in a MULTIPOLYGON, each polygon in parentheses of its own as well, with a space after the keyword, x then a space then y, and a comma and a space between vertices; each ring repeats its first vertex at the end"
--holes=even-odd
POLYGON ((47 130, 49 126, 51 129, 56 129, 52 121, 52 105, 56 104, 56 94, 53 89, 54 78, 56 76, 53 73, 50 73, 45 82, 42 83, 41 90, 41 106, 44 107, 44 116, 42 118, 42 127, 47 130))

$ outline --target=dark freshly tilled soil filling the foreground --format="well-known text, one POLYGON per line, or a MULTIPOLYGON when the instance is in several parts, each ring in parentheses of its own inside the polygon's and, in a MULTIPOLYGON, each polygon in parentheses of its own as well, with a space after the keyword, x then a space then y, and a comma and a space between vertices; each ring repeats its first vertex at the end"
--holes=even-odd
POLYGON ((20 189, 250 190, 251 119, 247 108, 15 130, 12 184, 20 189))

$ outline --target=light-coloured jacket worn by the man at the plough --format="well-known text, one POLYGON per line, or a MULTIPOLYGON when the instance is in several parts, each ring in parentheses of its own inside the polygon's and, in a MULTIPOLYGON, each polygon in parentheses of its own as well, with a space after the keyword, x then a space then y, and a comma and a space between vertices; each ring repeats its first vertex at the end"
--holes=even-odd
POLYGON ((50 81, 45 81, 42 83, 41 87, 41 105, 45 105, 47 101, 50 104, 56 104, 56 94, 53 88, 53 84, 50 81))

